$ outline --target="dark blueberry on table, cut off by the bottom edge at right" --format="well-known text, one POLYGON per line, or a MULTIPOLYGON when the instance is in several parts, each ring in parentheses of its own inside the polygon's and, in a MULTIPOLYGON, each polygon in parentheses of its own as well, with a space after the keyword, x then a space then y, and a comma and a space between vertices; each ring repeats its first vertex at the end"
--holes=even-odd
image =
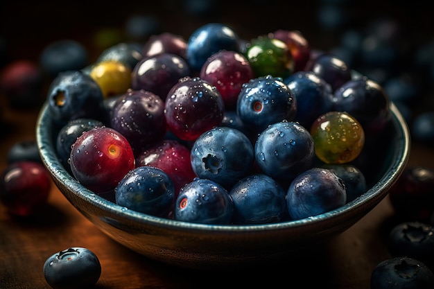
POLYGON ((378 263, 372 270, 371 289, 428 289, 434 286, 434 274, 421 261, 399 256, 378 263))

